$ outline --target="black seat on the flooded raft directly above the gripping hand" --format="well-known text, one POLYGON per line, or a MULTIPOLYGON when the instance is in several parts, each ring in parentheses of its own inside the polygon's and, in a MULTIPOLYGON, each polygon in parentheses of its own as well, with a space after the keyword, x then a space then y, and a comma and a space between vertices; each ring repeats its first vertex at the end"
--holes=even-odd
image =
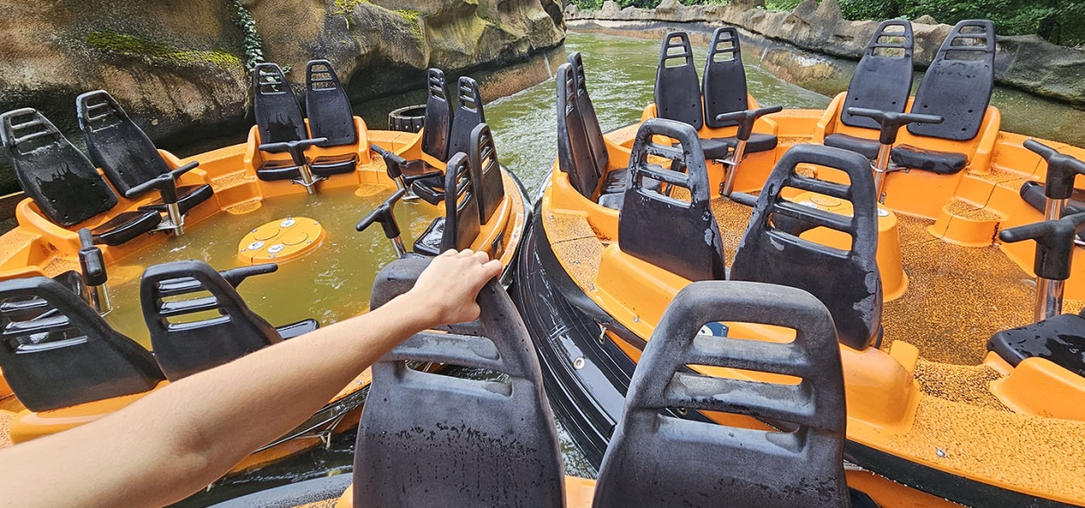
MULTIPOLYGON (((480 208, 471 163, 463 152, 448 160, 445 170, 445 215, 414 241, 414 252, 436 256, 449 249, 468 249, 478 237, 480 208)), ((500 175, 498 175, 500 176, 500 175)))

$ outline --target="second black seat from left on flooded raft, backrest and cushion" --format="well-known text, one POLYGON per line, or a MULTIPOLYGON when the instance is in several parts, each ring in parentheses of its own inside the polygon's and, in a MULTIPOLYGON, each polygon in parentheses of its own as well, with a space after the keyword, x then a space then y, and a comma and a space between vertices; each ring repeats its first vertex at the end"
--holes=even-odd
MULTIPOLYGON (((132 188, 173 170, 146 132, 105 90, 82 93, 75 102, 79 130, 87 140, 90 158, 123 195, 128 196, 132 188)), ((182 214, 207 201, 214 193, 208 185, 177 187, 176 192, 177 205, 182 214)), ((166 212, 162 198, 142 207, 166 212)))

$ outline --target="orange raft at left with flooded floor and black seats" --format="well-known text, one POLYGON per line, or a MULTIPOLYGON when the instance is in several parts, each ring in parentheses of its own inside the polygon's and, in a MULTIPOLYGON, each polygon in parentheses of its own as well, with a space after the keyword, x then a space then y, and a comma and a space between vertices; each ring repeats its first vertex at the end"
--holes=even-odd
MULTIPOLYGON (((18 226, 0 237, 0 443, 92 421, 170 380, 312 330, 311 315, 363 310, 380 242, 354 223, 398 190, 441 205, 418 200, 401 211, 416 252, 471 247, 512 265, 529 208, 497 163, 473 79, 460 78, 454 97, 430 71, 420 134, 368 129, 327 61, 307 66, 307 117, 277 65, 260 64, 253 85, 248 141, 183 160, 156 150, 101 90, 77 100, 90 158, 34 110, 0 115, 28 196, 18 226), (446 161, 456 170, 446 174, 446 161), (201 261, 183 261, 193 257, 201 261), (203 259, 237 268, 217 272, 203 259), (280 265, 245 284, 247 302, 241 296, 242 280, 280 265), (276 328, 257 312, 297 322, 276 328)), ((234 472, 352 428, 369 381, 359 376, 234 472)))

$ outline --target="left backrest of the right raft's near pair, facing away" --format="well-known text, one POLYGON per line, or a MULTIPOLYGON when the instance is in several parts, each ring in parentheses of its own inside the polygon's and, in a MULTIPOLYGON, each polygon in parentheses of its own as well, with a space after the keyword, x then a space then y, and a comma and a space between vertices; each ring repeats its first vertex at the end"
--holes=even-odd
POLYGON ((675 120, 644 122, 633 142, 628 178, 617 217, 618 249, 689 280, 723 279, 724 247, 697 131, 675 120), (659 144, 653 136, 665 136, 678 145, 659 144), (671 169, 649 163, 649 155, 669 160, 671 169), (690 201, 646 188, 646 178, 689 190, 690 201))

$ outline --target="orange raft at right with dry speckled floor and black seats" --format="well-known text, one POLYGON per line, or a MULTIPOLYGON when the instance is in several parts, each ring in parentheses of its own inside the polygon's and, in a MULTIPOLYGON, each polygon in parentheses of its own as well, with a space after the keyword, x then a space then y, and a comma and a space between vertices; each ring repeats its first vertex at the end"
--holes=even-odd
MULTIPOLYGON (((881 506, 1085 505, 1085 319, 1061 314, 1085 300, 1085 150, 999 130, 993 25, 958 24, 910 97, 910 25, 883 23, 826 111, 758 107, 740 54, 718 29, 702 84, 688 37, 668 35, 654 104, 605 136, 579 56, 559 69, 559 157, 513 297, 563 427, 603 461, 691 282, 793 285, 835 325, 848 485, 881 506)), ((722 321, 703 333, 795 336, 722 321)), ((745 361, 686 372, 792 389, 745 361)), ((664 412, 787 428, 750 404, 664 412)))

